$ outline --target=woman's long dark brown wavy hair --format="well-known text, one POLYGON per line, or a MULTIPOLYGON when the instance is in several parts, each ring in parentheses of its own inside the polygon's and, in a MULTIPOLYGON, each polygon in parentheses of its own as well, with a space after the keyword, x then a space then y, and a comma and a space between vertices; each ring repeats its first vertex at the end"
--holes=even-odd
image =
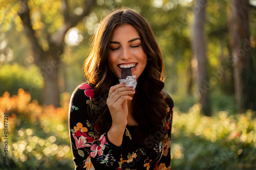
MULTIPOLYGON (((136 92, 133 96, 133 115, 139 124, 133 138, 139 144, 145 145, 145 139, 152 136, 154 140, 163 140, 159 135, 166 117, 166 103, 163 99, 164 87, 163 56, 156 41, 155 35, 148 22, 131 9, 118 9, 111 12, 100 23, 93 37, 91 51, 84 62, 84 73, 88 83, 94 85, 94 92, 99 102, 98 111, 91 110, 91 120, 99 125, 99 132, 108 132, 112 118, 106 99, 111 86, 118 84, 108 64, 110 38, 116 27, 130 24, 138 31, 143 51, 147 55, 147 64, 137 82, 136 92)), ((153 139, 151 137, 151 139, 153 139)))

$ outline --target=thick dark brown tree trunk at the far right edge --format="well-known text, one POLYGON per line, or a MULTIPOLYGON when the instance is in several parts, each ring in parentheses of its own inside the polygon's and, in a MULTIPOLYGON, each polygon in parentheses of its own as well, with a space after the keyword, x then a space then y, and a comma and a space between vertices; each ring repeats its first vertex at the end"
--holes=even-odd
POLYGON ((239 112, 256 110, 256 76, 251 55, 248 3, 244 0, 231 0, 231 62, 239 112))

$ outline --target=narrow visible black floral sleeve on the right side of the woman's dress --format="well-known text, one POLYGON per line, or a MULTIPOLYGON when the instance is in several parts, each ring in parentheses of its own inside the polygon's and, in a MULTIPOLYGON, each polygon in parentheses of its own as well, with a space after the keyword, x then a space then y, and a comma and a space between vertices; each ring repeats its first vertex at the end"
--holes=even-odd
POLYGON ((159 162, 156 164, 154 170, 158 169, 171 169, 171 158, 170 158, 170 134, 172 132, 172 121, 173 121, 173 111, 174 102, 173 99, 164 92, 165 102, 167 104, 168 115, 164 120, 164 129, 167 131, 165 135, 165 141, 163 142, 163 154, 159 162))

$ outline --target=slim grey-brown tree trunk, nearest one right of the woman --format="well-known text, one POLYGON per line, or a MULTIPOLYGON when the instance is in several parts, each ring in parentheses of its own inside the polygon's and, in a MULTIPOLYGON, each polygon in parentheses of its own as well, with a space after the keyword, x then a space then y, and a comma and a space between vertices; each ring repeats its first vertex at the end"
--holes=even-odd
POLYGON ((207 116, 211 116, 211 103, 209 98, 209 90, 212 85, 209 83, 207 72, 206 45, 204 40, 204 18, 205 18, 206 0, 197 0, 194 8, 195 22, 192 27, 192 46, 198 61, 198 89, 200 93, 201 112, 207 116))

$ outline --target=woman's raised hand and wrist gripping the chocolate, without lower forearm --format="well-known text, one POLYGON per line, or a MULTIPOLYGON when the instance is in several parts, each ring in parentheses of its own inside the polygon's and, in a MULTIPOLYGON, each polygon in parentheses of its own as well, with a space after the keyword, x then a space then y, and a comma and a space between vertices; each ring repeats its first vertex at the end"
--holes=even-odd
POLYGON ((133 87, 125 87, 125 83, 112 86, 109 91, 109 97, 106 104, 109 107, 112 126, 123 127, 127 125, 128 107, 127 100, 132 100, 130 95, 135 93, 133 87))

